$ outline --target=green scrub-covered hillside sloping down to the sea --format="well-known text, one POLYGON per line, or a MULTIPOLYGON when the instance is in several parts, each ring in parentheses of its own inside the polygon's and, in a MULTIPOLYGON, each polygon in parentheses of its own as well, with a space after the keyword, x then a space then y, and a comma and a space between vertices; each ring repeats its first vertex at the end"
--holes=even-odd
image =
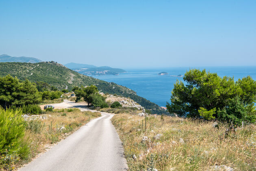
POLYGON ((124 97, 130 97, 141 106, 151 109, 152 113, 165 113, 160 107, 143 97, 136 94, 135 91, 127 87, 120 86, 113 82, 105 82, 77 73, 68 69, 64 65, 55 62, 41 62, 41 63, 0 63, 0 76, 11 76, 19 78, 20 80, 28 79, 31 82, 46 82, 59 90, 65 89, 66 86, 70 91, 75 86, 87 86, 95 84, 99 91, 103 93, 117 94, 124 97))

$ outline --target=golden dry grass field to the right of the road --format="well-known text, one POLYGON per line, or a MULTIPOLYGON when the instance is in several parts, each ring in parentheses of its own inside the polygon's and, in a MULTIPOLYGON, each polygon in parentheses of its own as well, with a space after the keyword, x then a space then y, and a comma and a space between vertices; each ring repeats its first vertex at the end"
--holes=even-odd
POLYGON ((237 171, 256 170, 255 125, 238 128, 224 138, 225 126, 214 128, 213 122, 202 120, 149 116, 146 132, 145 117, 118 114, 112 123, 119 132, 132 171, 150 167, 151 154, 158 171, 206 171, 214 165, 226 165, 237 171), (161 134, 160 139, 154 138, 157 134, 161 134), (143 136, 150 141, 142 141, 143 136))

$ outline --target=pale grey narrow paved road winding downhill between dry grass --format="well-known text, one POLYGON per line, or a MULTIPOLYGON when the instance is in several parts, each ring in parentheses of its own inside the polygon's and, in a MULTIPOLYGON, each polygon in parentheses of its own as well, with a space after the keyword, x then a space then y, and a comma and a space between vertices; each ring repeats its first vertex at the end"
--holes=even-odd
MULTIPOLYGON (((87 110, 80 104, 65 102, 87 110)), ((102 112, 102 117, 91 120, 19 171, 127 170, 124 149, 110 121, 112 117, 102 112)))

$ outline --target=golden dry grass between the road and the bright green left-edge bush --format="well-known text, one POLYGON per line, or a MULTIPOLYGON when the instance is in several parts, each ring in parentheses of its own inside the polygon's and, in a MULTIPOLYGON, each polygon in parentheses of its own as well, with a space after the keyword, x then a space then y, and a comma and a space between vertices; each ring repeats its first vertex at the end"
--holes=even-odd
POLYGON ((55 109, 44 112, 38 119, 26 121, 26 139, 30 143, 30 157, 19 165, 29 162, 37 154, 44 152, 51 144, 65 139, 69 134, 85 125, 91 119, 100 117, 100 113, 81 112, 79 109, 55 109), (40 118, 44 117, 46 119, 40 118))

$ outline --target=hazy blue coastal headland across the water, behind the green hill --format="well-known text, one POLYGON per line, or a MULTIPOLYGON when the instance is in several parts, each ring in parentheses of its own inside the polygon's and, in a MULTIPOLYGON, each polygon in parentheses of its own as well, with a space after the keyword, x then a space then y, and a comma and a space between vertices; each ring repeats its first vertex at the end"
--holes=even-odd
POLYGON ((77 71, 80 74, 87 76, 95 75, 117 75, 119 73, 126 72, 124 69, 111 68, 108 66, 96 67, 94 65, 79 64, 79 63, 67 63, 65 65, 67 68, 77 71))

